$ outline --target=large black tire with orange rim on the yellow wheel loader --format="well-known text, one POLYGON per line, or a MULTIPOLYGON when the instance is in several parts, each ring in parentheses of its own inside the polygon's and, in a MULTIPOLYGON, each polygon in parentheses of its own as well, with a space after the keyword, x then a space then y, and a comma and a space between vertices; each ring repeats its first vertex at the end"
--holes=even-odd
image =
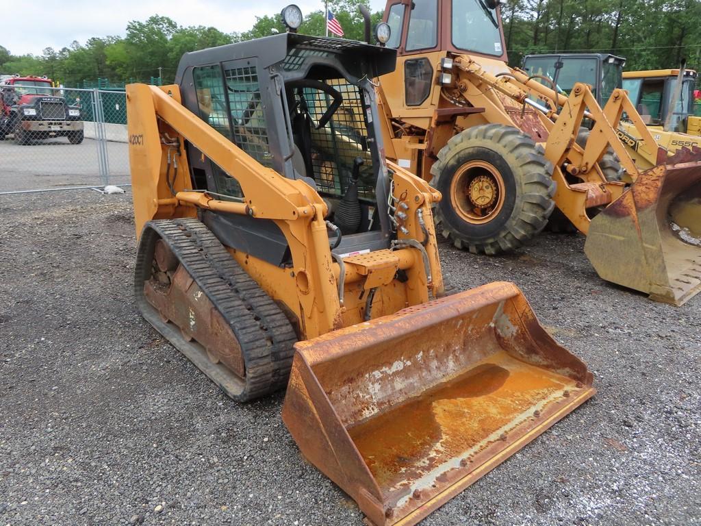
POLYGON ((552 166, 517 128, 485 124, 448 141, 431 168, 443 198, 439 231, 457 248, 495 255, 529 243, 547 224, 555 203, 552 166))

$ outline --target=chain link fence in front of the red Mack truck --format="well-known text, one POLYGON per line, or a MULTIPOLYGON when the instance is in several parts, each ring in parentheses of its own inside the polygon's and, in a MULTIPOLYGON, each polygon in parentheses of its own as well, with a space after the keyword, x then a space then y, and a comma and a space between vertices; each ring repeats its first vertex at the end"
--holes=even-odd
POLYGON ((0 85, 0 194, 130 182, 126 93, 0 85))

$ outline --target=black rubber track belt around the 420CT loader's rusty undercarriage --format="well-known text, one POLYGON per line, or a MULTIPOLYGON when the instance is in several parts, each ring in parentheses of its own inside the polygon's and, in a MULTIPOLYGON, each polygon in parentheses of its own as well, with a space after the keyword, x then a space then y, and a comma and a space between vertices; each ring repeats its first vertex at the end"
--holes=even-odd
POLYGON ((144 318, 231 398, 252 400, 287 385, 294 354, 292 346, 297 342, 290 321, 202 222, 196 219, 149 221, 139 243, 134 285, 139 311, 144 318), (154 248, 159 238, 168 244, 229 323, 243 353, 244 382, 224 366, 206 360, 199 344, 186 342, 179 330, 173 330, 175 325, 164 323, 147 302, 144 281, 151 277, 154 248))

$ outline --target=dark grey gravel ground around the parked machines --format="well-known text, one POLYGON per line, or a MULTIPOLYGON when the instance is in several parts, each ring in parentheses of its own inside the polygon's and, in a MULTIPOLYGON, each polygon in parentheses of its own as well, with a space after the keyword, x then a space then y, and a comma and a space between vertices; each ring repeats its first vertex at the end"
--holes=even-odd
MULTIPOLYGON (((137 314, 129 194, 0 196, 0 217, 0 525, 361 524, 283 393, 233 403, 137 314)), ((599 393, 421 524, 701 524, 701 295, 608 285, 580 236, 442 262, 460 288, 515 281, 599 393)))

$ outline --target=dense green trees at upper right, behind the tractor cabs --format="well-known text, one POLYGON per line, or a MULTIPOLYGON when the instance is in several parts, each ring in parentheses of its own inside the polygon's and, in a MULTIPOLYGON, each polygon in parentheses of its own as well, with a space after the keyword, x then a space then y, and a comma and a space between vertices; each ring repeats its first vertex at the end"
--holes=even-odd
POLYGON ((698 0, 510 0, 502 6, 512 65, 527 53, 614 53, 626 69, 699 69, 698 0))

